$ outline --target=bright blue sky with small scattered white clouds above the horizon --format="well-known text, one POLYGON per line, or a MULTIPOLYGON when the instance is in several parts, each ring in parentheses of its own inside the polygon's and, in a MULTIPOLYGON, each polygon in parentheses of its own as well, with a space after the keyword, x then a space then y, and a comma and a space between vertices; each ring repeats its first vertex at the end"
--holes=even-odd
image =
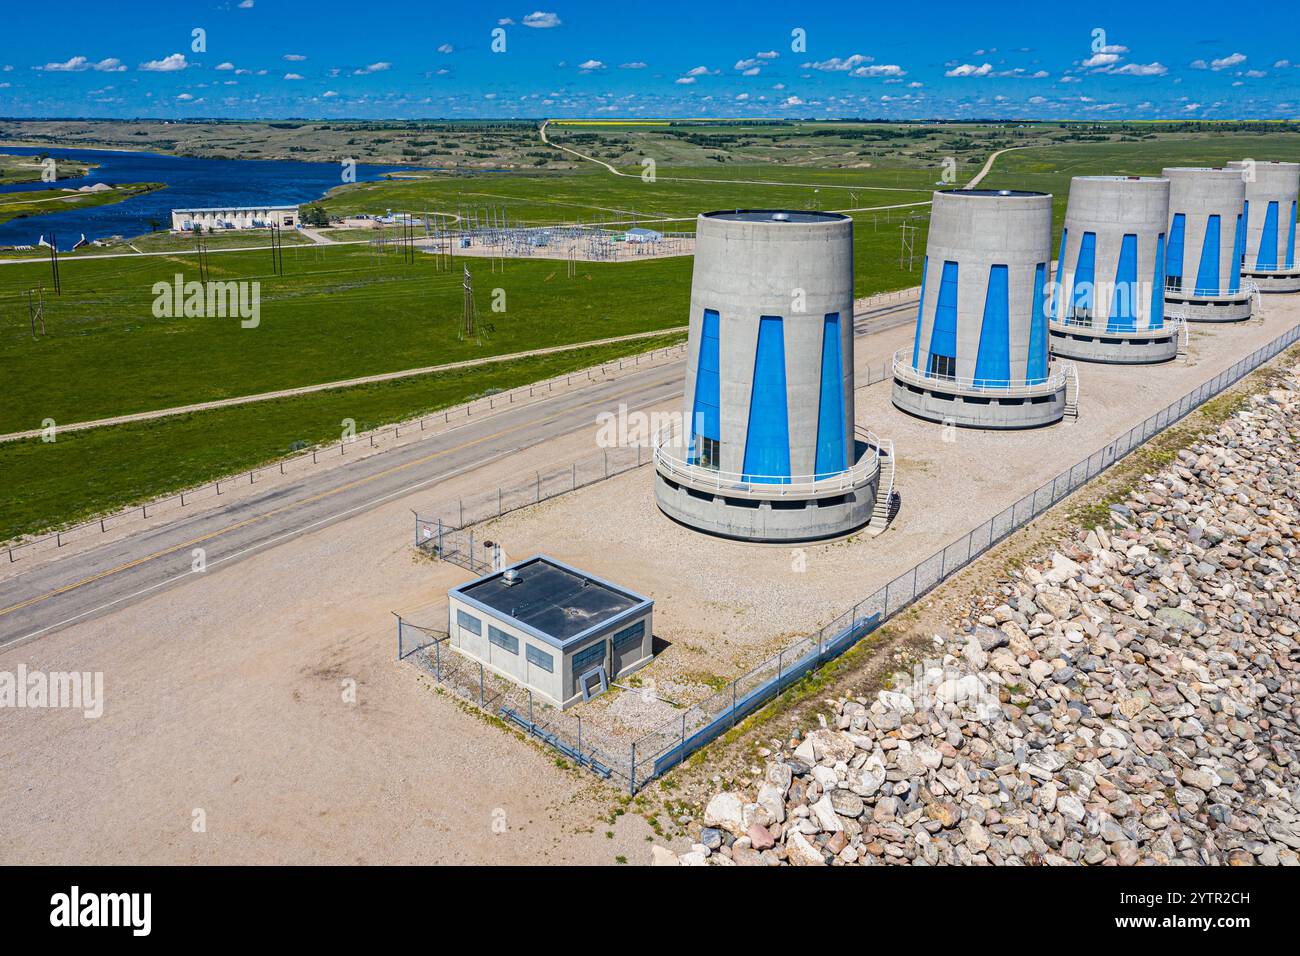
POLYGON ((1300 118, 1287 4, 540 3, 8 3, 0 116, 1300 118))

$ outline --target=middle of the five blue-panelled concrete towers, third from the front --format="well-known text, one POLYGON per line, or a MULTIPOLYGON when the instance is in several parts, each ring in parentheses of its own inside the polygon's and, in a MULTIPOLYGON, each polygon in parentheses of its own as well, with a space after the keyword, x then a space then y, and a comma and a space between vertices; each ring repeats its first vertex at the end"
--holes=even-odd
POLYGON ((1182 324, 1165 321, 1169 179, 1076 176, 1061 232, 1052 351, 1110 363, 1167 362, 1182 324))

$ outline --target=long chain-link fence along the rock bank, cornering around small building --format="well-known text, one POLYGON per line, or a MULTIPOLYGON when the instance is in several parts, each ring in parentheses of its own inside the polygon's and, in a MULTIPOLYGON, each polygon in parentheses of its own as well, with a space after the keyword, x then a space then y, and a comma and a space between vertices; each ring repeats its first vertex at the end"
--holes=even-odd
MULTIPOLYGON (((403 628, 412 626, 400 618, 398 620, 398 653, 403 653, 403 646, 419 648, 411 650, 407 657, 433 674, 443 685, 454 688, 465 700, 478 704, 491 713, 500 714, 582 766, 589 766, 606 778, 618 778, 630 792, 636 792, 649 780, 680 763, 694 750, 725 734, 746 715, 758 710, 763 704, 823 663, 842 654, 881 623, 966 567, 1002 538, 1078 490, 1143 442, 1149 441, 1195 411, 1206 399, 1213 398, 1277 356, 1297 339, 1300 339, 1300 326, 1283 333, 1141 424, 1128 429, 1105 447, 1066 468, 1031 494, 1026 494, 1010 507, 898 575, 835 620, 809 636, 800 637, 774 657, 733 679, 718 693, 697 704, 682 706, 680 714, 671 721, 636 739, 628 739, 625 732, 598 723, 595 714, 584 724, 580 714, 564 714, 549 706, 540 706, 525 688, 485 672, 481 665, 462 654, 445 653, 445 637, 430 637, 432 632, 425 628, 417 628, 422 636, 403 637, 403 628)), ((576 475, 576 471, 572 475, 576 475)), ((581 486, 572 475, 568 488, 563 490, 581 486)), ((541 479, 538 479, 540 481, 541 479)), ((534 499, 543 499, 538 496, 540 492, 534 490, 534 499)), ((503 501, 511 499, 503 497, 503 501)), ((489 496, 489 503, 490 501, 491 496, 489 496)), ((500 512, 499 507, 497 512, 500 512)), ((421 525, 421 520, 416 522, 417 541, 422 533, 421 528, 437 528, 437 524, 421 525)))

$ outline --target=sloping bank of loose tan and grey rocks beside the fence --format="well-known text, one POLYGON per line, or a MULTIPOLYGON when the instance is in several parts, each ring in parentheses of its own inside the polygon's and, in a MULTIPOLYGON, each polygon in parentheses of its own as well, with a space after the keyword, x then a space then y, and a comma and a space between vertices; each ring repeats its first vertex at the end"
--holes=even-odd
POLYGON ((666 865, 1300 865, 1300 367, 827 701, 666 865))

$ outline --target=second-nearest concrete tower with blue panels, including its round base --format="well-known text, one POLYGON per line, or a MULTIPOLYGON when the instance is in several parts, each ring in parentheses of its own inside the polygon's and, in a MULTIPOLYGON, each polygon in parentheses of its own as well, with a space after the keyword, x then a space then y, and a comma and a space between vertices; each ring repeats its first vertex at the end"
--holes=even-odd
POLYGON ((893 403, 933 421, 1030 428, 1065 415, 1072 367, 1050 360, 1052 196, 935 193, 911 347, 893 403))

